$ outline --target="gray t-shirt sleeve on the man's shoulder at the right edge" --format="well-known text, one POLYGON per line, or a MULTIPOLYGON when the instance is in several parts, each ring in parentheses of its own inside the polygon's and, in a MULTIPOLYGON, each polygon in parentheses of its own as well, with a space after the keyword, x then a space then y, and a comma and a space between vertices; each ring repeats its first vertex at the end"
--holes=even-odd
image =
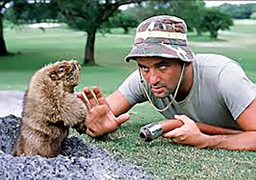
POLYGON ((219 74, 219 92, 236 120, 254 100, 256 87, 238 63, 228 62, 219 74))

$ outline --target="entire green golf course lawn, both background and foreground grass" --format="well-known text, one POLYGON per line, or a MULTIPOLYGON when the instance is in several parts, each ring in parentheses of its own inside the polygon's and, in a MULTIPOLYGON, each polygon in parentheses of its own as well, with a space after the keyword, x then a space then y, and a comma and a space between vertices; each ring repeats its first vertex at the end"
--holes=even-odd
MULTIPOLYGON (((252 21, 235 21, 231 31, 222 31, 218 41, 208 37, 197 38, 190 33, 191 48, 196 53, 217 53, 233 58, 241 64, 249 78, 256 82, 256 27, 252 21), (252 30, 254 29, 254 30, 252 30)), ((97 34, 95 56, 98 66, 83 67, 81 82, 84 85, 100 85, 105 95, 114 92, 137 66, 126 63, 124 57, 130 51, 134 32, 122 31, 97 34), (120 33, 121 32, 121 33, 120 33)), ((84 32, 64 27, 40 29, 25 27, 22 30, 5 29, 8 51, 15 56, 0 57, 0 91, 25 91, 33 72, 49 62, 61 59, 77 59, 83 62, 86 42, 84 32)), ((154 179, 254 179, 256 154, 214 149, 198 149, 174 145, 168 139, 158 138, 147 143, 139 139, 141 126, 163 119, 148 103, 133 107, 131 119, 106 139, 97 140, 82 135, 86 142, 113 152, 127 163, 133 163, 152 175, 154 179)), ((77 135, 72 132, 71 135, 77 135)))

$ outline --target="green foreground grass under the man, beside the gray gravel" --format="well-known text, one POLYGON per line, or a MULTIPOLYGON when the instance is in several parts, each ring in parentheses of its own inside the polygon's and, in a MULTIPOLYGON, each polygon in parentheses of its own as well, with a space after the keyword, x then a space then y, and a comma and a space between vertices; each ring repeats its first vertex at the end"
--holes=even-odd
POLYGON ((80 137, 145 169, 153 179, 253 179, 256 175, 255 152, 198 149, 163 138, 143 142, 140 127, 163 117, 148 103, 136 105, 129 114, 131 119, 104 140, 80 137))

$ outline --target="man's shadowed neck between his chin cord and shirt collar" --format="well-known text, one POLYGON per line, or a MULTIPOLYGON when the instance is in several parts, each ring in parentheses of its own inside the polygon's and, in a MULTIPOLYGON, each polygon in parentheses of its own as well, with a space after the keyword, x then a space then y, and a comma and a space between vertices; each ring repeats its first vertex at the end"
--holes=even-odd
POLYGON ((180 88, 178 89, 177 95, 175 97, 175 101, 177 102, 183 101, 188 96, 192 88, 194 80, 194 69, 192 63, 193 62, 191 62, 188 66, 185 66, 184 75, 180 83, 180 88))

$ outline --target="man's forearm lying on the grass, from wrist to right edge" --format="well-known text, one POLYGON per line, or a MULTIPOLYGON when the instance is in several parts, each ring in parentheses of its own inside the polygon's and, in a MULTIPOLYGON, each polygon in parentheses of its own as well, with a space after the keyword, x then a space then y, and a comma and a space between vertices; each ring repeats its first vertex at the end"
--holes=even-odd
POLYGON ((256 151, 256 131, 235 135, 208 135, 206 147, 256 151))

